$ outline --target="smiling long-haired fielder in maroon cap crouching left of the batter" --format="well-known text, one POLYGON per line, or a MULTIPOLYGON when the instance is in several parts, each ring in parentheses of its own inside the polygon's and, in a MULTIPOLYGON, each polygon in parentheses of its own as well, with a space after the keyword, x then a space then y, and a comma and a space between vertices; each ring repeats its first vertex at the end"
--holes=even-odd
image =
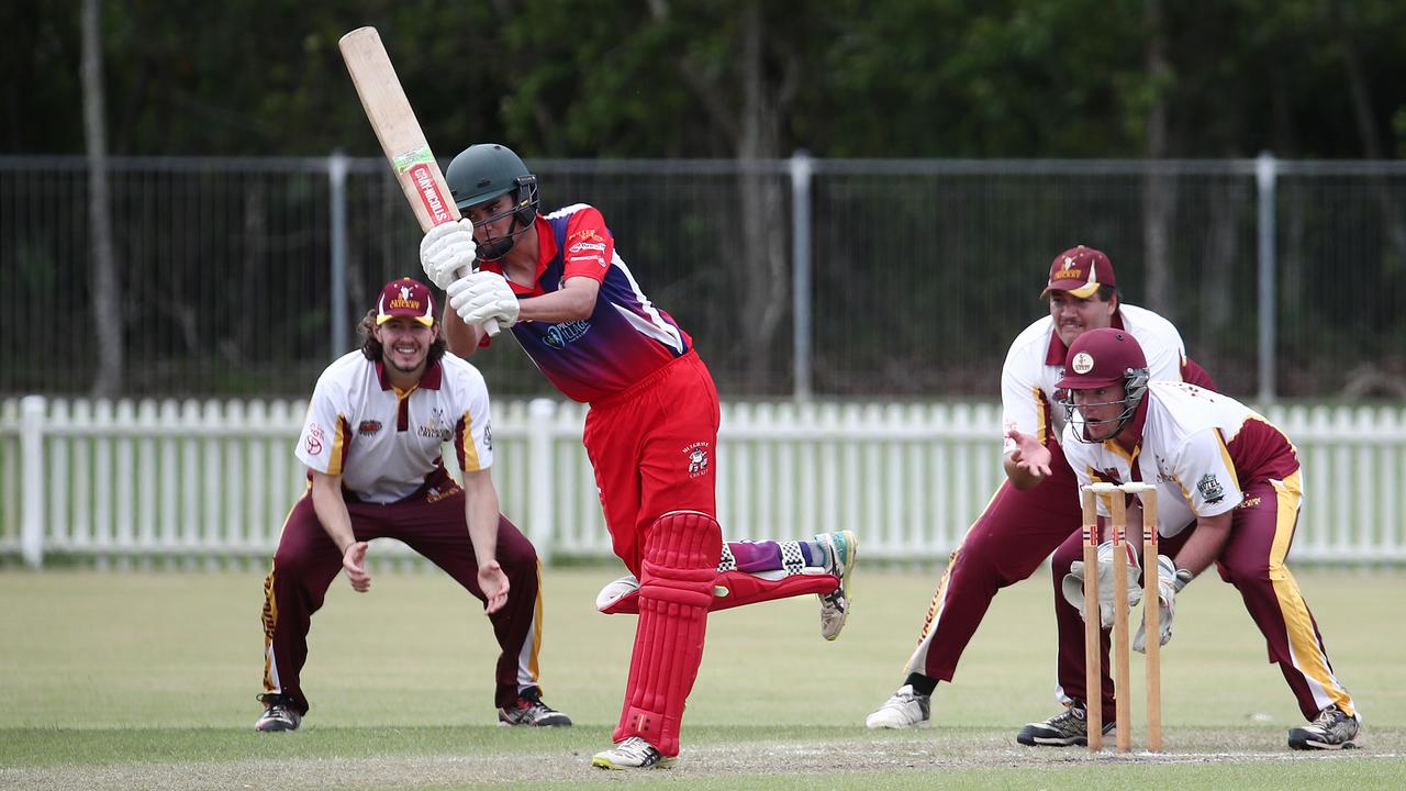
POLYGON ((295 455, 309 486, 283 526, 264 580, 263 732, 295 730, 308 712, 301 683, 312 614, 337 571, 366 593, 368 542, 395 538, 484 602, 501 647, 495 705, 502 725, 571 725, 541 702, 541 586, 531 542, 498 512, 488 387, 446 352, 434 300, 402 277, 361 321, 361 349, 318 379, 295 455), (463 486, 444 469, 451 443, 463 486))

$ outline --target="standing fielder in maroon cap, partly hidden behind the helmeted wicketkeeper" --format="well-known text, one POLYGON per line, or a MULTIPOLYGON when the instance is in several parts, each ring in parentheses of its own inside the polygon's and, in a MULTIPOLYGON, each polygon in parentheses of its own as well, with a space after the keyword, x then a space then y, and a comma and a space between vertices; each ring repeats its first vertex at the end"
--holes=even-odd
POLYGON ((1091 329, 1116 327, 1149 349, 1153 379, 1215 388, 1205 370, 1187 359, 1181 334, 1170 321, 1123 303, 1114 263, 1102 251, 1078 245, 1054 256, 1040 298, 1049 303, 1049 314, 1017 335, 1001 369, 1008 480, 952 553, 908 659, 907 677, 868 716, 869 728, 925 728, 938 681, 956 676, 957 662, 995 594, 1033 574, 1060 542, 1078 533, 1078 490, 1060 448, 1064 414, 1056 386, 1064 374, 1069 343, 1091 329))

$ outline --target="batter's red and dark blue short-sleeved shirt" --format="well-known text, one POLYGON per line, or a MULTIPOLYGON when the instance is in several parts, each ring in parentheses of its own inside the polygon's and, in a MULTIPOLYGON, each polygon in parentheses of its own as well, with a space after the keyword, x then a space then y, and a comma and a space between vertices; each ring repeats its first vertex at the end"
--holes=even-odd
MULTIPOLYGON (((538 217, 534 232, 536 281, 530 287, 509 281, 519 297, 553 293, 569 277, 600 283, 585 319, 513 325, 513 336, 564 396, 605 400, 688 353, 693 341, 636 283, 600 211, 586 204, 558 208, 538 217)), ((495 262, 482 269, 502 273, 495 262)), ((488 345, 486 336, 482 343, 488 345)))

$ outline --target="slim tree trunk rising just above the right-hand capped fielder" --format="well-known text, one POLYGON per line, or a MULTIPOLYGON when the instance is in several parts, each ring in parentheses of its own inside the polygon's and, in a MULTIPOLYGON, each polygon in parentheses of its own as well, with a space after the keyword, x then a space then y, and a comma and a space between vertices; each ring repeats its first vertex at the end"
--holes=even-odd
MULTIPOLYGON (((1153 104, 1147 113, 1147 159, 1167 158, 1167 91, 1164 76, 1171 72, 1167 62, 1167 31, 1163 24, 1161 0, 1147 0, 1144 6, 1147 30, 1146 68, 1153 82, 1153 104)), ((1167 239, 1177 208, 1174 177, 1150 167, 1143 175, 1143 255, 1147 265, 1146 291, 1142 304, 1173 318, 1175 277, 1167 255, 1167 239)))

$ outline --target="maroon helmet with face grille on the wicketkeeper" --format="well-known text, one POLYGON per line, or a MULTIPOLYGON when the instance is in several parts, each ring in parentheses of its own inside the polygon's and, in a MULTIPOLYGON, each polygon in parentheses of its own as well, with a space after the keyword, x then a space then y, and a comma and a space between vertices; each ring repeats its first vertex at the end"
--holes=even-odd
MULTIPOLYGON (((1121 400, 1084 405, 1104 407, 1108 404, 1122 404, 1122 412, 1116 418, 1112 418, 1118 421, 1118 425, 1114 428, 1114 435, 1116 435, 1132 419, 1133 412, 1137 411, 1137 404, 1142 403, 1142 397, 1147 393, 1147 357, 1143 355, 1137 341, 1123 329, 1114 329, 1112 327, 1090 329, 1070 343, 1069 353, 1064 356, 1064 374, 1056 383, 1057 387, 1067 393, 1064 400, 1067 419, 1074 422, 1076 390, 1095 390, 1112 384, 1123 386, 1123 397, 1121 400)), ((1111 421, 1081 419, 1080 422, 1085 431, 1074 432, 1076 436, 1084 442, 1101 442, 1088 439, 1087 428, 1090 424, 1111 421)))

